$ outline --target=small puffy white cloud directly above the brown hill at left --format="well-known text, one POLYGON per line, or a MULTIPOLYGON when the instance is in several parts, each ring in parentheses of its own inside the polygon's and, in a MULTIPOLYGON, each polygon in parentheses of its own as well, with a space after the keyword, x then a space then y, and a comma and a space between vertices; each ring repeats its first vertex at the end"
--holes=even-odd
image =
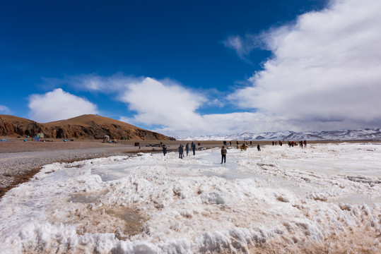
POLYGON ((40 123, 69 119, 82 114, 98 114, 95 104, 64 92, 61 88, 44 95, 30 95, 28 106, 30 119, 40 123))

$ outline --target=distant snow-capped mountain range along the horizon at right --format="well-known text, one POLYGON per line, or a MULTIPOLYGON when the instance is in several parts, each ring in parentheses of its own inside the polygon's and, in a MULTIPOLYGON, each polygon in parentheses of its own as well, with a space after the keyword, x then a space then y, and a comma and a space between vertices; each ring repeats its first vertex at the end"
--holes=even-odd
MULTIPOLYGON (((183 138, 177 138, 183 139, 183 138)), ((204 135, 183 140, 381 140, 380 128, 361 128, 339 131, 277 131, 233 135, 204 135)))

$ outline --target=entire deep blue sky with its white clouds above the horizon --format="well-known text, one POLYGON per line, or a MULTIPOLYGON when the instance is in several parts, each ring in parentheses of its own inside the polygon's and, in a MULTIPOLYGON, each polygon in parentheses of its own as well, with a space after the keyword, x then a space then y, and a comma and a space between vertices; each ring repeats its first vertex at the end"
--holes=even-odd
POLYGON ((377 0, 9 1, 0 114, 172 136, 380 127, 377 0))

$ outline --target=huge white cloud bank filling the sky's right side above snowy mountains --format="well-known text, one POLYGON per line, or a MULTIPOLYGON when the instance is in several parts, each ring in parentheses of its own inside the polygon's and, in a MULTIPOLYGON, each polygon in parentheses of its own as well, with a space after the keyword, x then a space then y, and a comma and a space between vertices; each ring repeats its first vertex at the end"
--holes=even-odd
POLYGON ((380 127, 380 11, 378 0, 332 1, 264 33, 273 57, 230 99, 297 129, 380 127))

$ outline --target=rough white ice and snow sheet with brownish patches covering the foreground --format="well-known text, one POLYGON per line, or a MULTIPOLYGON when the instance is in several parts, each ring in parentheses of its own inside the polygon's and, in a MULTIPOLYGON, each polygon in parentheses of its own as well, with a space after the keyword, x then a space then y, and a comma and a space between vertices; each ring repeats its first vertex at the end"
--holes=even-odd
POLYGON ((381 145, 51 164, 0 202, 0 253, 380 253, 381 145))

